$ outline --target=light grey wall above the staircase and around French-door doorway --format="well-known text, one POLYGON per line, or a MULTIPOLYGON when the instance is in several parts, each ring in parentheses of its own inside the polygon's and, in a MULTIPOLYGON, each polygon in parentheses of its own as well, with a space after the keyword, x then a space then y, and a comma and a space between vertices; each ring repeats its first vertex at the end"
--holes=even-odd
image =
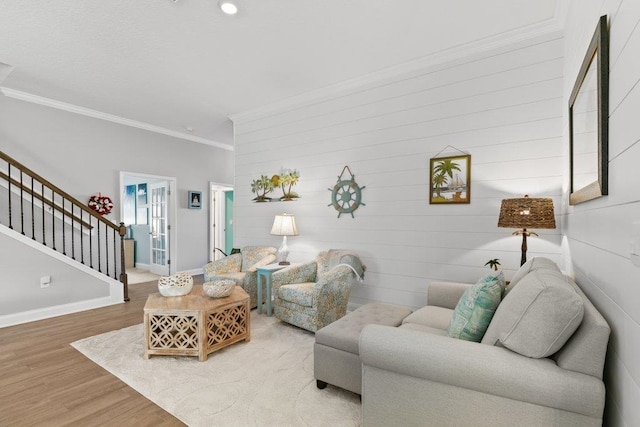
POLYGON ((101 192, 120 221, 120 172, 177 179, 176 271, 208 261, 206 208, 187 208, 187 192, 208 194, 210 181, 232 182, 233 153, 167 135, 31 104, 0 95, 0 150, 79 200, 101 192))

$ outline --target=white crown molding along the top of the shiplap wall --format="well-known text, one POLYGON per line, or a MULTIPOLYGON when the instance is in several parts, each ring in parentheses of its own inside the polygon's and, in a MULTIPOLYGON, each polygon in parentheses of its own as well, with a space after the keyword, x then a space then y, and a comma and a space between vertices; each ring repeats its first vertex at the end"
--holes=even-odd
POLYGON ((395 65, 383 70, 365 74, 354 79, 327 86, 318 90, 305 92, 263 107, 245 112, 232 114, 229 118, 234 124, 250 122, 264 116, 300 108, 303 105, 322 102, 363 86, 375 86, 385 81, 395 79, 415 72, 430 72, 453 66, 456 63, 482 58, 489 53, 508 48, 526 46, 531 43, 553 40, 562 37, 562 26, 555 17, 547 21, 506 31, 500 34, 461 44, 450 49, 442 50, 422 58, 395 65))

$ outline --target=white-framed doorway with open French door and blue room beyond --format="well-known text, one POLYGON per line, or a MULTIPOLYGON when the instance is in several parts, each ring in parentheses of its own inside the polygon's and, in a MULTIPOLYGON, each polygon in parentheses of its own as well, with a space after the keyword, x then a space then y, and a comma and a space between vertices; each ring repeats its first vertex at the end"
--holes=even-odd
POLYGON ((120 217, 133 239, 135 270, 169 275, 177 266, 176 178, 120 172, 120 217))

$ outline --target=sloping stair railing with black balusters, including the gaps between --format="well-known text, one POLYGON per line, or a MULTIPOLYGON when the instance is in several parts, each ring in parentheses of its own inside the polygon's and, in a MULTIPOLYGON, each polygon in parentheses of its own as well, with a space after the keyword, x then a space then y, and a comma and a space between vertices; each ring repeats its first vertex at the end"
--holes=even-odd
POLYGON ((122 283, 124 223, 114 224, 0 151, 0 224, 122 283))

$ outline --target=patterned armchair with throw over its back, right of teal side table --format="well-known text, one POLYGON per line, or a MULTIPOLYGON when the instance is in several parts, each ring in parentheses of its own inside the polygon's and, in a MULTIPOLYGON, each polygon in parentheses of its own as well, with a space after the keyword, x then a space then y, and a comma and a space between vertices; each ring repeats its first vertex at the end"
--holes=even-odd
POLYGON ((354 277, 365 266, 353 252, 320 252, 315 261, 293 265, 272 276, 274 312, 278 319, 315 332, 347 312, 354 277))

